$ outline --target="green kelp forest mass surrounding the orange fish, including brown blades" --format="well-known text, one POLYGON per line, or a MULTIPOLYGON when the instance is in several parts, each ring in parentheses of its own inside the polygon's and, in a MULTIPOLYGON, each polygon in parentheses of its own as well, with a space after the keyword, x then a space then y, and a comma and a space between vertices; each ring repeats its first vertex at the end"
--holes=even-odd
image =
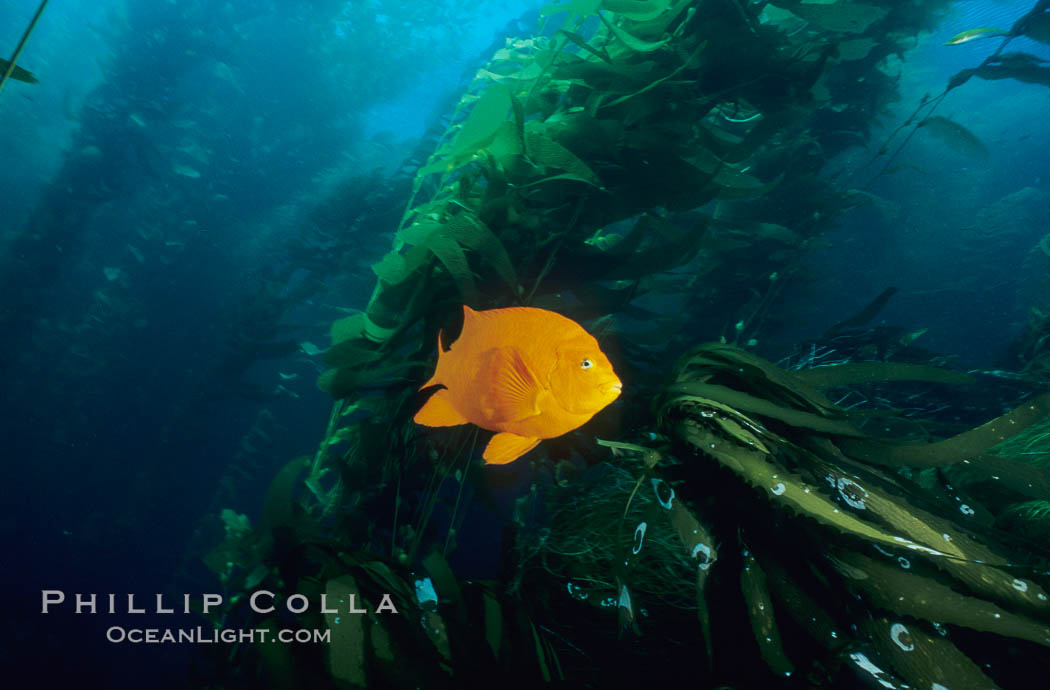
POLYGON ((257 524, 223 511, 206 559, 230 603, 216 624, 286 625, 248 606, 260 588, 369 612, 302 613, 323 645, 220 649, 211 687, 1046 678, 1050 305, 999 371, 878 325, 891 288, 763 350, 824 233, 885 204, 843 186, 836 156, 868 142, 852 179, 874 181, 921 129, 965 137, 938 112, 956 89, 1050 86, 1011 50, 1050 41, 1040 0, 953 39, 989 57, 870 141, 949 4, 569 0, 507 36, 390 201, 404 212, 384 216, 366 309, 332 325, 323 438, 273 477, 257 524), (576 320, 623 395, 482 465, 489 432, 413 422, 463 305, 576 320))

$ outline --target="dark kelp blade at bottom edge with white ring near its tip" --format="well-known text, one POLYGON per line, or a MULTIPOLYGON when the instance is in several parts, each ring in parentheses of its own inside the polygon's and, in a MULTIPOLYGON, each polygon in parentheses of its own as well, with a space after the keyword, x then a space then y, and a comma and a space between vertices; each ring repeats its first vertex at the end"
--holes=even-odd
POLYGON ((927 634, 911 621, 878 618, 862 623, 880 657, 910 687, 999 690, 995 682, 950 641, 927 634))

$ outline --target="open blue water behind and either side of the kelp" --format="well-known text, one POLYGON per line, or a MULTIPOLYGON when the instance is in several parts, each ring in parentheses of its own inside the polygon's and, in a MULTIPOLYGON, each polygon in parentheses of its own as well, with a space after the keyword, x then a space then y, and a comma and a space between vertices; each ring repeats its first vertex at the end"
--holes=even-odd
MULTIPOLYGON (((0 48, 35 4, 0 8, 0 48)), ((215 586, 198 559, 218 510, 256 518, 270 477, 323 432, 319 364, 298 343, 323 348, 329 323, 364 306, 406 201, 396 169, 536 4, 52 3, 20 61, 41 83, 0 93, 7 677, 185 683, 190 648, 108 645, 105 628, 128 616, 44 616, 40 590, 215 586), (333 196, 343 206, 324 206, 333 196), (330 260, 338 242, 355 260, 330 260)), ((960 3, 900 65, 887 130, 991 49, 946 48, 947 37, 1008 27, 1028 6, 960 3)), ((1023 84, 954 92, 940 113, 991 159, 918 137, 902 158, 911 167, 869 190, 896 211, 855 211, 825 238, 789 292, 797 316, 762 354, 896 286, 880 319, 996 365, 1038 277, 1025 266, 1047 231, 1033 219, 1046 211, 1048 111, 1050 92, 1023 84)), ((833 166, 843 184, 866 182, 868 155, 833 166)))

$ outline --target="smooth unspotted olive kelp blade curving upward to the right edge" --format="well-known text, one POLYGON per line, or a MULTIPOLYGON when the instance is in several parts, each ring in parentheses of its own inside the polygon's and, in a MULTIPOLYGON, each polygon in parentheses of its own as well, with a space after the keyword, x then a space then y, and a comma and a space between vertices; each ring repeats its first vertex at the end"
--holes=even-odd
POLYGON ((939 467, 981 455, 1050 414, 1050 394, 1044 393, 976 428, 936 443, 889 445, 860 439, 842 439, 848 456, 880 465, 939 467))

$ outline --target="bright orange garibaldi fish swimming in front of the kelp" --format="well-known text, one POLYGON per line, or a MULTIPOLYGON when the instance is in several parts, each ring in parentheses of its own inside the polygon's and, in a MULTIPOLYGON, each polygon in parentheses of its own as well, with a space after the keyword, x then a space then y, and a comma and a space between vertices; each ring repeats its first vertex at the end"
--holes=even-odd
POLYGON ((420 390, 444 385, 416 413, 425 426, 477 424, 499 432, 482 457, 504 464, 541 439, 579 427, 620 396, 623 383, 594 336, 561 314, 531 307, 476 312, 420 390))

